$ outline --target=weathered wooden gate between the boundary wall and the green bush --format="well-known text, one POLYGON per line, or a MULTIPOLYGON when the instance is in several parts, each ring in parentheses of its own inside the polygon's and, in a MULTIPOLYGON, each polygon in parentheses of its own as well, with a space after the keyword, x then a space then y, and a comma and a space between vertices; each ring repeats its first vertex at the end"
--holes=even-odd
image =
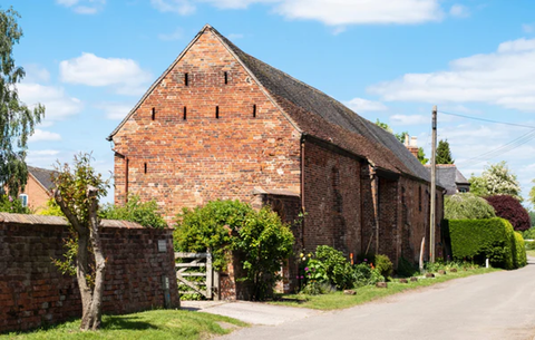
POLYGON ((184 284, 189 286, 192 291, 179 291, 181 294, 198 293, 206 299, 218 300, 220 297, 220 275, 212 266, 212 254, 208 253, 175 253, 175 260, 181 260, 175 263, 176 279, 178 285, 184 284), (205 268, 205 271, 192 269, 205 268), (204 276, 203 281, 193 281, 191 278, 204 276))

